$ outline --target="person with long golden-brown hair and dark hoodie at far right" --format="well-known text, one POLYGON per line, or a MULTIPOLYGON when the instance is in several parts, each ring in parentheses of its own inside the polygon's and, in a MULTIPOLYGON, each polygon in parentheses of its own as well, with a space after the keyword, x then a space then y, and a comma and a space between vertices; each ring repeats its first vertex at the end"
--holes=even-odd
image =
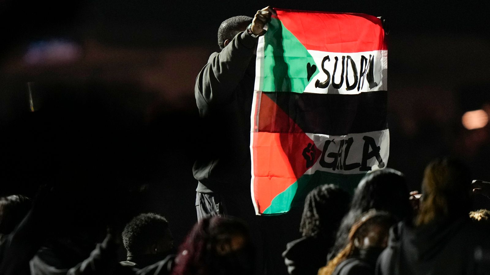
POLYGON ((490 250, 490 227, 470 219, 471 192, 469 169, 462 162, 430 162, 418 214, 392 228, 376 274, 480 274, 476 252, 490 250))

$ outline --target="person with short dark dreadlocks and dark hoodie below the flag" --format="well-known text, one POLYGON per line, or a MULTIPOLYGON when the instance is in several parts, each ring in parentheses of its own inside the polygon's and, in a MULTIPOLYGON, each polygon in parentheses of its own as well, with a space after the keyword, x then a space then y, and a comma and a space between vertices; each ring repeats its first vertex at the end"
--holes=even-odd
POLYGON ((308 193, 299 225, 302 237, 288 243, 282 254, 289 274, 313 275, 325 265, 349 202, 349 194, 333 184, 320 185, 308 193))

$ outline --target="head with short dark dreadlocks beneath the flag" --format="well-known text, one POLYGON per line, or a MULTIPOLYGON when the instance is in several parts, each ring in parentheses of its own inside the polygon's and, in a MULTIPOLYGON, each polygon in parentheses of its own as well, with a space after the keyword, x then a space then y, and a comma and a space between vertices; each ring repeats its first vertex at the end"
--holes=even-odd
POLYGON ((303 236, 320 236, 333 241, 349 203, 349 194, 334 184, 316 187, 306 196, 299 231, 303 236))

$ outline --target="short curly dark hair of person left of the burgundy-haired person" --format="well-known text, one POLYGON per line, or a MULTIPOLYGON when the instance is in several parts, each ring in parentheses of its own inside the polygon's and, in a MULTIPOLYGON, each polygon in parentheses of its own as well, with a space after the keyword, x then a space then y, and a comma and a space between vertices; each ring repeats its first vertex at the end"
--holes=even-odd
POLYGON ((143 253, 161 238, 169 228, 169 222, 155 213, 144 213, 134 217, 123 230, 123 244, 128 253, 143 253))

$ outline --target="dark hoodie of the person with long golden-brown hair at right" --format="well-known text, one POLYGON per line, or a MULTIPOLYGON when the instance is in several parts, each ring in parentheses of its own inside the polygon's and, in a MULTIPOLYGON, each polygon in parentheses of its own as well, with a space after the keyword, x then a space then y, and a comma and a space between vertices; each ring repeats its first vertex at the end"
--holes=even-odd
POLYGON ((490 249, 486 223, 468 217, 435 219, 419 227, 401 222, 390 231, 388 248, 378 258, 376 274, 490 274, 490 270, 481 271, 475 260, 479 249, 490 249))

